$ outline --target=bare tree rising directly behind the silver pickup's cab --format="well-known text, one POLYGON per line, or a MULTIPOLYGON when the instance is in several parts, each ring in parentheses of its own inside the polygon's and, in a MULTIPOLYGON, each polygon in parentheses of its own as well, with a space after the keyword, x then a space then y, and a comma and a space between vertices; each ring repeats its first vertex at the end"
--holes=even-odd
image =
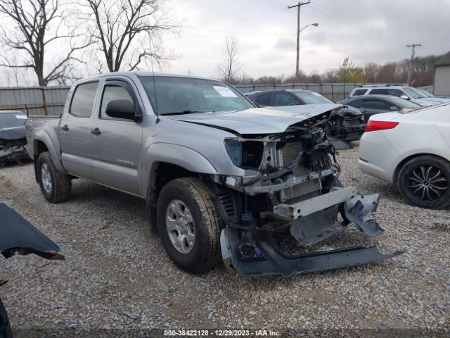
POLYGON ((81 4, 87 9, 88 34, 110 72, 139 70, 144 61, 161 65, 170 59, 162 50, 160 34, 176 25, 168 19, 163 0, 81 0, 81 4))

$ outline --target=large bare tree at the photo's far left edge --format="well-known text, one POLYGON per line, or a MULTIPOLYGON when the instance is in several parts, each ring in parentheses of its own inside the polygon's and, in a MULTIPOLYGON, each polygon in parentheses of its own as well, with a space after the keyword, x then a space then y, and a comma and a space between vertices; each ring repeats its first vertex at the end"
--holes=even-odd
POLYGON ((11 57, 2 55, 1 66, 6 68, 32 69, 37 75, 40 86, 49 82, 68 82, 72 78, 74 61, 82 62, 77 51, 84 49, 85 44, 74 44, 79 37, 75 29, 68 27, 68 11, 61 8, 60 0, 0 0, 0 14, 13 25, 3 24, 0 27, 0 39, 7 49, 17 52, 20 62, 11 62, 11 57), (63 56, 46 62, 46 51, 53 45, 63 56), (67 43, 68 42, 68 43, 67 43), (67 53, 65 53, 67 51, 67 53))

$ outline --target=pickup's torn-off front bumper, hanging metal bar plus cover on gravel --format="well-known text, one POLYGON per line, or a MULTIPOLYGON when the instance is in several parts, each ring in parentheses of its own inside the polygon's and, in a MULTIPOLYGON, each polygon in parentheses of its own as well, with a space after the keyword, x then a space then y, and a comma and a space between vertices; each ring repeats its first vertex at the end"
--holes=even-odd
MULTIPOLYGON (((285 217, 290 218, 290 222, 278 227, 245 228, 241 225, 228 225, 221 232, 221 253, 226 267, 241 275, 289 276, 363 265, 404 253, 395 251, 385 255, 376 246, 343 249, 326 247, 302 255, 283 252, 276 243, 276 235, 280 233, 293 237, 302 248, 309 248, 328 239, 349 224, 370 237, 383 233, 374 219, 366 220, 378 206, 378 194, 354 194, 354 187, 349 187, 335 189, 331 196, 323 196, 319 196, 322 198, 313 204, 303 204, 302 207, 306 208, 300 208, 300 204, 283 206, 287 212, 285 217), (345 196, 348 199, 345 200, 345 196), (342 222, 338 221, 339 212, 344 218, 342 222), (283 232, 284 230, 288 232, 283 232)), ((274 215, 274 218, 279 217, 282 217, 280 213, 274 215)))

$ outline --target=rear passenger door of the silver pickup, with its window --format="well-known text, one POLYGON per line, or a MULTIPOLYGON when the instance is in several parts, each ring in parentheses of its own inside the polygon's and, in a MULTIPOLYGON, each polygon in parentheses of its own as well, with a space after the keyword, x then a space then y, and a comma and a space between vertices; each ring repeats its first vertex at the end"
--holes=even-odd
POLYGON ((75 176, 92 179, 91 117, 98 81, 75 87, 68 111, 60 121, 59 142, 65 170, 75 176))

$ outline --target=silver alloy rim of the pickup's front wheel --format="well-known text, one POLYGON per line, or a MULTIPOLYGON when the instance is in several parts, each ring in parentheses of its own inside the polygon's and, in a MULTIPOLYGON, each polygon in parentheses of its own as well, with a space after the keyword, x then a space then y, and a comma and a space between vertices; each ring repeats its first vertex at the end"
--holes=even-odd
POLYGON ((167 206, 166 227, 170 242, 181 253, 192 251, 195 243, 194 221, 189 208, 179 199, 167 206))

